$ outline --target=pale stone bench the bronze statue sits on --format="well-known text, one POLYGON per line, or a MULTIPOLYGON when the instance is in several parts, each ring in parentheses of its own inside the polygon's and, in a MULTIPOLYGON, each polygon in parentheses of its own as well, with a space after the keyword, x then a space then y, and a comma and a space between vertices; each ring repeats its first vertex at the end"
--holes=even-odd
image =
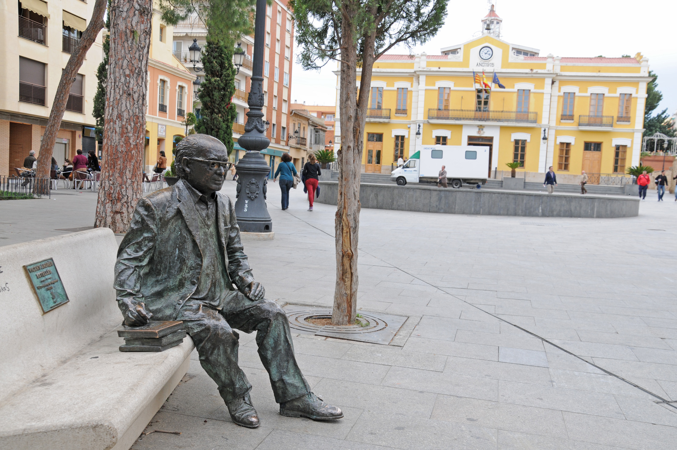
POLYGON ((1 449, 127 450, 188 370, 190 337, 118 351, 117 247, 108 228, 0 247, 1 449), (47 258, 70 301, 43 314, 22 266, 47 258))

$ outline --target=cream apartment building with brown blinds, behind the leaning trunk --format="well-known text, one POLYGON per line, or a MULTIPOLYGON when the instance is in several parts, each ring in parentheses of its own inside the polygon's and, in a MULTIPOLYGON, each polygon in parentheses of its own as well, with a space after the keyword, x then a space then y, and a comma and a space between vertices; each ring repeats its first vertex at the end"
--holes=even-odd
MULTIPOLYGON (((39 155, 62 70, 87 27, 94 2, 5 1, 0 6, 0 176, 16 174, 30 150, 39 155)), ((91 115, 102 34, 70 89, 53 156, 61 165, 78 149, 96 150, 91 115)))

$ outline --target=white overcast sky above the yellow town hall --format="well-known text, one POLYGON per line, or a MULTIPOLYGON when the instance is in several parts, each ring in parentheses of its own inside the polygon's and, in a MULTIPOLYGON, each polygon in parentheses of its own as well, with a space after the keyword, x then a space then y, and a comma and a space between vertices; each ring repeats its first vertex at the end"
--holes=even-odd
MULTIPOLYGON (((677 16, 674 0, 601 1, 494 0, 503 19, 504 41, 540 49, 540 56, 634 56, 642 52, 649 68, 658 75, 663 102, 658 110, 677 110, 677 16)), ((447 20, 437 36, 414 49, 414 53, 439 55, 441 47, 469 41, 481 28, 480 20, 489 9, 486 0, 451 0, 447 20)), ((298 49, 297 49, 298 52, 298 49)), ((407 53, 406 48, 391 50, 407 53)), ((318 71, 304 71, 294 64, 292 102, 336 103, 336 76, 329 62, 318 71)))

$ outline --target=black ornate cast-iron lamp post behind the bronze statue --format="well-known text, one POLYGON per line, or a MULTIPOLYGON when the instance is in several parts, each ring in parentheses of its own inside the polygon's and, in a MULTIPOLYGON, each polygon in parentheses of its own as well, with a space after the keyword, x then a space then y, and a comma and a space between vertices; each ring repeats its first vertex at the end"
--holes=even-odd
POLYGON ((265 136, 263 121, 263 49, 265 47, 265 7, 266 0, 256 2, 256 22, 254 28, 254 67, 251 88, 247 98, 249 112, 244 134, 238 144, 246 154, 235 166, 238 171, 237 201, 235 213, 240 230, 244 232, 271 232, 273 222, 265 205, 267 174, 270 166, 263 159, 261 150, 268 148, 270 141, 265 136))

